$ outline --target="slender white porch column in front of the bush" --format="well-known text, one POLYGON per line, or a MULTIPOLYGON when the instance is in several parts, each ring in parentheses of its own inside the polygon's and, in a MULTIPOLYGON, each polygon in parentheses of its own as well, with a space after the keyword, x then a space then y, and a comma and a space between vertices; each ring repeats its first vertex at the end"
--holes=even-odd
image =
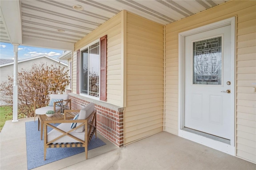
POLYGON ((13 64, 13 119, 18 121, 18 44, 13 44, 14 64, 13 64))

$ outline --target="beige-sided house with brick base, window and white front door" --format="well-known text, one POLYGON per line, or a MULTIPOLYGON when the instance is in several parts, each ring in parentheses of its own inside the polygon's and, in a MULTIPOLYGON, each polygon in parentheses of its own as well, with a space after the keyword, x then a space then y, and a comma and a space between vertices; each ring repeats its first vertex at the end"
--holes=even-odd
POLYGON ((119 147, 167 131, 255 163, 255 9, 230 1, 168 25, 121 11, 59 57, 72 106, 94 102, 98 132, 119 147), (207 53, 221 66, 198 61, 207 72, 193 75, 207 53))

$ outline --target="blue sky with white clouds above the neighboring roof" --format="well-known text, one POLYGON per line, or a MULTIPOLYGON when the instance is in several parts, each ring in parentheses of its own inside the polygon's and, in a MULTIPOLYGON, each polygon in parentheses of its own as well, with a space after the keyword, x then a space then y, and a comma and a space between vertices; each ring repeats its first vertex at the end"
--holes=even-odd
MULTIPOLYGON (((62 55, 62 53, 63 50, 45 49, 23 45, 18 46, 18 60, 28 59, 40 55, 47 55, 57 59, 60 55, 62 55)), ((0 43, 0 59, 13 59, 13 57, 13 45, 10 43, 0 43)))

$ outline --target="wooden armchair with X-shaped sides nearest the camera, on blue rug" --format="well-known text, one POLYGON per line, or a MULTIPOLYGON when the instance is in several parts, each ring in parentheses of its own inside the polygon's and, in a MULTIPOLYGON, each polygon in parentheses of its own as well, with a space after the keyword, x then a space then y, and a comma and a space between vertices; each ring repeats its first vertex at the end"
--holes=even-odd
POLYGON ((88 144, 94 134, 96 136, 96 109, 93 103, 81 110, 65 110, 64 120, 44 121, 44 160, 46 160, 47 148, 60 147, 84 147, 87 159, 88 144), (78 119, 75 119, 76 116, 74 119, 66 119, 78 112, 78 119), (55 127, 53 123, 60 123, 60 125, 55 127), (73 129, 71 129, 72 123, 77 123, 73 129), (47 127, 52 127, 52 131, 48 133, 47 127))

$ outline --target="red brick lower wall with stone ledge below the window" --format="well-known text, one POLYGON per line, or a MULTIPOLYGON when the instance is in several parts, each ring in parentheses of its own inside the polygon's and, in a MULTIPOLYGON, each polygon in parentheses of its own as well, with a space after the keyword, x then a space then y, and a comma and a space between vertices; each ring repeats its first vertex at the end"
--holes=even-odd
MULTIPOLYGON (((72 100, 72 109, 82 109, 90 103, 86 98, 72 94, 70 90, 66 90, 66 93, 70 95, 69 98, 72 100)), ((111 106, 108 108, 107 105, 95 104, 97 109, 97 132, 116 146, 121 147, 124 145, 123 111, 122 109, 116 111, 111 106)))

